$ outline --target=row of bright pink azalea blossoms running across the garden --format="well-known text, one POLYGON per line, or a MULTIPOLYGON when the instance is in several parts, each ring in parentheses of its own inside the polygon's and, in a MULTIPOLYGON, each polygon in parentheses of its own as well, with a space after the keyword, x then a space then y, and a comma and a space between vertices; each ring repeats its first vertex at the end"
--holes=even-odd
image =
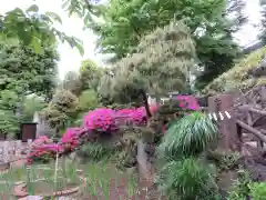
MULTIPOLYGON (((198 110, 200 107, 194 97, 178 96, 177 100, 181 101, 180 107, 186 107, 191 110, 198 110), (185 104, 184 102, 187 104, 185 104)), ((158 106, 151 106, 150 110, 154 113, 158 106)), ((63 134, 60 143, 52 143, 48 137, 40 137, 34 140, 33 149, 28 158, 28 163, 33 161, 48 161, 54 159, 57 153, 63 154, 72 152, 79 147, 79 139, 83 133, 90 132, 111 132, 114 133, 119 130, 119 119, 130 121, 133 124, 146 123, 146 111, 144 107, 136 109, 121 109, 112 110, 108 108, 95 109, 89 111, 83 118, 82 128, 69 128, 63 134)))

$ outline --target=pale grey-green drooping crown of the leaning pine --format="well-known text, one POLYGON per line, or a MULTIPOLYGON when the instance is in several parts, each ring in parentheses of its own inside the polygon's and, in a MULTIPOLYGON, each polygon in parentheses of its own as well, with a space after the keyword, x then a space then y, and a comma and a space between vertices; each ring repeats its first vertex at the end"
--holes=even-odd
POLYGON ((155 94, 184 91, 188 73, 194 70, 194 58, 187 27, 172 22, 144 37, 136 53, 121 59, 113 68, 114 74, 103 78, 100 93, 125 103, 139 101, 143 91, 155 94))

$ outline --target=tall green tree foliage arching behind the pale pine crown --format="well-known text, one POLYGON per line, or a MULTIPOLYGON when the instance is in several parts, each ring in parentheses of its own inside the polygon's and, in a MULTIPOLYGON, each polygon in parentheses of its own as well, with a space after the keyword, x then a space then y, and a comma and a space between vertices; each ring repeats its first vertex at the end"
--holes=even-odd
MULTIPOLYGON (((142 38, 172 20, 184 20, 196 43, 202 88, 233 66, 239 49, 233 33, 246 21, 244 1, 238 0, 112 0, 101 7, 101 20, 86 19, 99 36, 98 50, 115 60, 135 52, 142 38)), ((99 7, 99 6, 98 6, 99 7)), ((85 20, 85 18, 84 18, 85 20)))

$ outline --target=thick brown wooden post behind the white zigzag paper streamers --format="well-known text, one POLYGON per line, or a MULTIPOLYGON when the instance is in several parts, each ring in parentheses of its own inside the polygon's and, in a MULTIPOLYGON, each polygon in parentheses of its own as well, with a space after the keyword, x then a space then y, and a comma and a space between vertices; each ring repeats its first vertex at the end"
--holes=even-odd
MULTIPOLYGON (((232 94, 218 94, 208 98, 208 111, 211 113, 218 113, 219 111, 231 112, 234 102, 234 97, 232 94)), ((232 116, 232 113, 231 113, 232 116)), ((242 150, 242 142, 239 131, 237 131, 237 124, 234 119, 225 118, 219 120, 218 130, 221 133, 221 141, 218 148, 225 151, 239 151, 242 150), (237 133, 238 132, 238 133, 237 133)))

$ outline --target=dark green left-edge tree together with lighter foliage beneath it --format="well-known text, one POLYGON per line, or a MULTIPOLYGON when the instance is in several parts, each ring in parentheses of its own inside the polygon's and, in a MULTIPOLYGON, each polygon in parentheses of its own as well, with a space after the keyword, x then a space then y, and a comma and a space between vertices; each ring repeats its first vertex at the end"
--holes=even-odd
POLYGON ((51 99, 57 86, 58 59, 52 48, 43 48, 37 53, 22 44, 0 47, 1 133, 16 134, 19 122, 29 120, 29 117, 23 117, 28 96, 37 94, 47 101, 51 99))

